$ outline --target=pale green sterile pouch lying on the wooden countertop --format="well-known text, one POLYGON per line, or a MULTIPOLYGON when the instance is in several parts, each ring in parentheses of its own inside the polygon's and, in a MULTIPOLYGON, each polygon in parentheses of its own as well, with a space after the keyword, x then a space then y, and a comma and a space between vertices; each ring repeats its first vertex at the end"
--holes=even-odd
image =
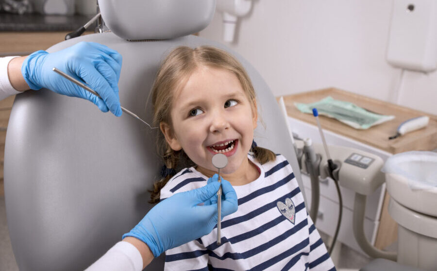
POLYGON ((372 113, 352 102, 344 102, 328 96, 319 102, 294 103, 303 113, 313 114, 313 108, 317 108, 320 115, 337 119, 355 129, 368 129, 374 125, 394 119, 394 116, 385 116, 372 113))

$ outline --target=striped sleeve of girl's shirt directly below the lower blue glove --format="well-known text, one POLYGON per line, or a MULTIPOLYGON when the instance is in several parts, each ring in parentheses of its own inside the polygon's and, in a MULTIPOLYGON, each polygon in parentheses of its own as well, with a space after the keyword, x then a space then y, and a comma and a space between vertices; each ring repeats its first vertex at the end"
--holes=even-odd
POLYGON ((208 271, 208 258, 208 250, 203 246, 202 240, 199 238, 166 251, 164 270, 208 271))

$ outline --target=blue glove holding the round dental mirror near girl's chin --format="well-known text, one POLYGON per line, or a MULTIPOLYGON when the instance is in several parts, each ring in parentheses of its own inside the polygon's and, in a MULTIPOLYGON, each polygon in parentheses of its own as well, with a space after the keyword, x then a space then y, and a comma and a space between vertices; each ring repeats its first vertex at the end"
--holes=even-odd
MULTIPOLYGON (((217 194, 220 184, 215 182, 198 189, 176 193, 156 204, 147 215, 124 237, 132 236, 145 242, 155 257, 164 251, 209 234, 217 224, 217 204, 205 204, 217 194), (199 205, 203 203, 203 205, 199 205)), ((234 188, 222 180, 224 200, 221 217, 238 209, 234 188)), ((216 195, 217 198, 217 195, 216 195)))

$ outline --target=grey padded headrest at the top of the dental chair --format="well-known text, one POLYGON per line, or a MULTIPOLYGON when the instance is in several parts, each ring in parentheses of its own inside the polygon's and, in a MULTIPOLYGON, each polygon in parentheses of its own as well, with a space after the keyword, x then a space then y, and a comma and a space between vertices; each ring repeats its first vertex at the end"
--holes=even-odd
POLYGON ((107 27, 128 40, 169 39, 204 29, 216 0, 99 0, 107 27))

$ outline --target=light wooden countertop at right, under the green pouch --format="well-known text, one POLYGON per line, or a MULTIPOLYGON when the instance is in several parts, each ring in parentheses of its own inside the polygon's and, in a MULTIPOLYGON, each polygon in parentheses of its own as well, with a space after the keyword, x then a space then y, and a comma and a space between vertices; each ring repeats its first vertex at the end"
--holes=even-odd
POLYGON ((327 96, 331 96, 336 100, 353 102, 357 106, 378 114, 393 115, 395 119, 372 126, 367 130, 357 130, 336 119, 320 115, 320 124, 323 129, 393 154, 407 151, 431 151, 437 148, 437 116, 337 88, 326 88, 284 96, 287 114, 294 119, 317 125, 312 114, 302 113, 294 103, 318 102, 327 96), (407 119, 420 116, 429 116, 430 121, 426 128, 388 140, 389 136, 396 135, 399 124, 407 119))

